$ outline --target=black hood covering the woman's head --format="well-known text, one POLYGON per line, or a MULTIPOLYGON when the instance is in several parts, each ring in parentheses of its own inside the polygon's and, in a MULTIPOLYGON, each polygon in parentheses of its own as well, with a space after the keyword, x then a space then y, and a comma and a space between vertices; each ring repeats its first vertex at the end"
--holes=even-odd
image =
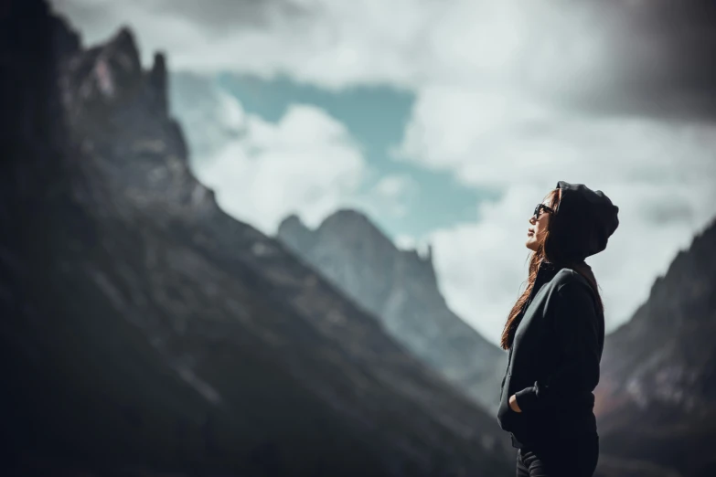
POLYGON ((560 204, 550 217, 550 238, 545 244, 550 260, 580 261, 601 252, 619 226, 619 207, 601 190, 559 181, 560 204))

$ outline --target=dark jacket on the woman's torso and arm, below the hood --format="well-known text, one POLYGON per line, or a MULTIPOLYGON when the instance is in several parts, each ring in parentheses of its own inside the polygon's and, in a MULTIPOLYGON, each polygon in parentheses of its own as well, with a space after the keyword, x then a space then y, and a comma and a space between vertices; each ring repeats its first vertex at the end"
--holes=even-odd
POLYGON ((604 314, 589 282, 542 263, 509 348, 497 420, 515 447, 596 434, 594 387, 604 348, 604 314), (516 395, 522 412, 509 407, 516 395))

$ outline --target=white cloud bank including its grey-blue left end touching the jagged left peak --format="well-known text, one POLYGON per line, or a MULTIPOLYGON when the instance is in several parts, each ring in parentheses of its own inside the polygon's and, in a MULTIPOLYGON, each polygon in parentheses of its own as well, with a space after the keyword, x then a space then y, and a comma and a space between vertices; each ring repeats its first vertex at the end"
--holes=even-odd
POLYGON ((369 167, 346 127, 326 111, 291 105, 280 121, 247 113, 212 80, 173 87, 192 151, 192 168, 219 206, 273 234, 297 213, 310 227, 342 206, 359 205, 369 167))

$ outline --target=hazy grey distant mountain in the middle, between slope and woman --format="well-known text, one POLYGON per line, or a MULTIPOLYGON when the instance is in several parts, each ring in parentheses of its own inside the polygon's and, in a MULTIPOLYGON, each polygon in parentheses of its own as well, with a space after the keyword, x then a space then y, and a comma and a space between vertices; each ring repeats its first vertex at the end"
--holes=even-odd
POLYGON ((339 210, 315 230, 286 217, 278 238, 365 310, 390 335, 490 412, 506 353, 450 311, 431 252, 400 250, 369 218, 339 210))

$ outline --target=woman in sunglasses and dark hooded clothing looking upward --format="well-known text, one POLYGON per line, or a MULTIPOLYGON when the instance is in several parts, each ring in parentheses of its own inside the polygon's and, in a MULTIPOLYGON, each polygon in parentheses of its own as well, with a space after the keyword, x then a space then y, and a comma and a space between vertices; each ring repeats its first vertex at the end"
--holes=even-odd
POLYGON ((590 477, 599 456, 594 387, 604 306, 586 257, 606 248, 619 208, 560 181, 529 218, 528 286, 508 315, 497 420, 518 448, 518 477, 590 477))

